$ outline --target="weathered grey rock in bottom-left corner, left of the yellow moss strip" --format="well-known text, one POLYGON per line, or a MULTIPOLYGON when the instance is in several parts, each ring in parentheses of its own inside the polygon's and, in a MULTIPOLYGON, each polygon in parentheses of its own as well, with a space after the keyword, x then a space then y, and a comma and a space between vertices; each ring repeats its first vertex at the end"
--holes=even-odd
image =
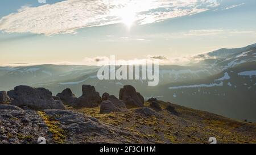
POLYGON ((45 123, 36 111, 25 111, 12 105, 0 107, 0 144, 36 143, 39 135, 50 141, 48 128, 38 125, 45 123))

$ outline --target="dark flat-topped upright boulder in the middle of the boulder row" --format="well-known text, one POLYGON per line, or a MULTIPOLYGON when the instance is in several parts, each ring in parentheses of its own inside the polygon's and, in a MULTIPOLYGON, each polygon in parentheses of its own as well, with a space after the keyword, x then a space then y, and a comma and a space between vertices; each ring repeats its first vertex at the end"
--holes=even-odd
POLYGON ((96 107, 101 103, 100 93, 94 86, 82 85, 82 96, 76 100, 76 107, 96 107))

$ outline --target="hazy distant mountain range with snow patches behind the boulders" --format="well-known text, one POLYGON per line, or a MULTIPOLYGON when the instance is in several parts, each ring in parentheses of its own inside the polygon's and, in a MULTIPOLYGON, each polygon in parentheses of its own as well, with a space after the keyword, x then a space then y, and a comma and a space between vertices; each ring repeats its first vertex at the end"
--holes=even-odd
POLYGON ((77 96, 81 85, 94 85, 101 94, 118 96, 123 85, 133 85, 145 98, 156 97, 192 107, 256 122, 256 44, 219 49, 193 57, 187 66, 159 66, 159 85, 146 80, 97 78, 98 66, 35 65, 0 67, 0 90, 17 85, 46 87, 54 94, 69 87, 77 96))

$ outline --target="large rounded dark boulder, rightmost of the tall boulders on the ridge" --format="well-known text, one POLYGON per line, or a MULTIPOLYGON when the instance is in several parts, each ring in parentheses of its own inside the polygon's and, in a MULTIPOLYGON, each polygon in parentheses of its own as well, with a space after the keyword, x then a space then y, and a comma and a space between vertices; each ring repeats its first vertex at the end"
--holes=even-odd
POLYGON ((128 107, 143 107, 144 98, 137 93, 135 88, 131 85, 125 85, 119 91, 119 99, 125 102, 128 107))

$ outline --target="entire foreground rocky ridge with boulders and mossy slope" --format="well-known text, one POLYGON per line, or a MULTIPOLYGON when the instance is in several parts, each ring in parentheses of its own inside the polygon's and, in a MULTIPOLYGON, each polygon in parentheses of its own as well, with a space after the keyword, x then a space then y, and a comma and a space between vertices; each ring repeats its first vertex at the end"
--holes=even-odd
POLYGON ((119 99, 83 85, 57 96, 17 86, 0 93, 0 144, 38 143, 256 143, 256 124, 238 122, 150 98, 123 86, 119 99), (64 106, 64 104, 65 106, 64 106))

